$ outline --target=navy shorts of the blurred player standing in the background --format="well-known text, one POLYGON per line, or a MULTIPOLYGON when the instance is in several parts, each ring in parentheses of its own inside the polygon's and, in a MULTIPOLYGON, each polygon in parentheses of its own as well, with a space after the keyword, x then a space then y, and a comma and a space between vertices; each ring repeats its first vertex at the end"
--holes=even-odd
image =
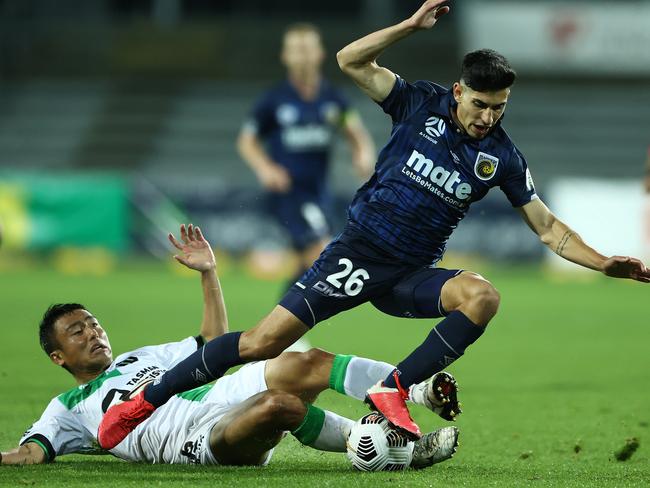
POLYGON ((302 192, 272 193, 269 208, 298 251, 331 235, 329 205, 324 197, 302 192))

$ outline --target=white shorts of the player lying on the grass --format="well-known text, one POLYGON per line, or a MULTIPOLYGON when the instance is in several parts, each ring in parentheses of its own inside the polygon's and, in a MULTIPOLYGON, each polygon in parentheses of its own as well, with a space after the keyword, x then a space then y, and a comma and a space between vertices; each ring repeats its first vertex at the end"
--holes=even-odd
MULTIPOLYGON (((192 390, 200 396, 194 400, 174 396, 119 446, 124 446, 124 455, 113 453, 123 459, 148 463, 218 464, 210 449, 210 432, 232 408, 268 389, 265 367, 266 361, 247 364, 211 387, 192 390), (201 396, 198 392, 203 389, 201 396)), ((272 453, 269 451, 264 465, 272 453)))

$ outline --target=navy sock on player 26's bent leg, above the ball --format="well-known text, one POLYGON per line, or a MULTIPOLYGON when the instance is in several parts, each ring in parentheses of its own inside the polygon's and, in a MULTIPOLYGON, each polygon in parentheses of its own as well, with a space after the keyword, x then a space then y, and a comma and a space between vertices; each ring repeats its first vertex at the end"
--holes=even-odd
MULTIPOLYGON (((459 311, 451 312, 441 321, 415 351, 397 365, 399 383, 404 389, 424 381, 442 371, 461 357, 470 344, 485 331, 459 311)), ((393 373, 384 380, 384 385, 397 388, 393 373)))

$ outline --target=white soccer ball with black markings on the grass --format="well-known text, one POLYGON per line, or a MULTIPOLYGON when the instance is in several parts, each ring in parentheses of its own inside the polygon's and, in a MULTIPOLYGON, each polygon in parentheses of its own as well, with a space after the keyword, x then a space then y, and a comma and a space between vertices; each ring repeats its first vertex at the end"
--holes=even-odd
POLYGON ((411 464, 413 446, 383 415, 372 412, 352 426, 348 459, 359 471, 401 471, 411 464))

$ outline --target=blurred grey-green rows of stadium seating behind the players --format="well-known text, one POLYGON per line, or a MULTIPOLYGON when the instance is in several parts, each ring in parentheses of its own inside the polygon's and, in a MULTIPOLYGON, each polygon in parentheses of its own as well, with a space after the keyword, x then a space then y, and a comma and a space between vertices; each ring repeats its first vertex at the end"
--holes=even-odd
MULTIPOLYGON (((636 177, 648 136, 650 90, 620 84, 522 81, 504 126, 538 182, 557 174, 636 177)), ((227 175, 255 184, 233 144, 259 83, 30 80, 3 83, 0 165, 122 168, 175 178, 227 175)), ((351 88, 376 141, 389 121, 351 88)), ((344 159, 341 152, 339 158, 344 159)), ((345 185, 349 178, 338 179, 345 185)), ((337 178, 334 179, 337 184, 337 178)))

